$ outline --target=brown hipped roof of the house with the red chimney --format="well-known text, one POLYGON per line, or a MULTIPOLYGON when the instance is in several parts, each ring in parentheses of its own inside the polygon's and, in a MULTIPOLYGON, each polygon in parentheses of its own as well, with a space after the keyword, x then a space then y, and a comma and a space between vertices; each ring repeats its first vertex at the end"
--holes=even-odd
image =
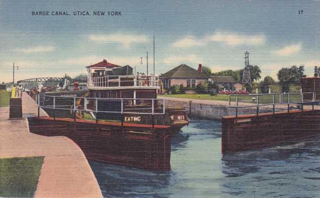
POLYGON ((173 69, 163 73, 159 76, 159 78, 185 78, 185 77, 209 77, 206 73, 199 72, 198 70, 182 64, 180 66, 176 66, 173 69))

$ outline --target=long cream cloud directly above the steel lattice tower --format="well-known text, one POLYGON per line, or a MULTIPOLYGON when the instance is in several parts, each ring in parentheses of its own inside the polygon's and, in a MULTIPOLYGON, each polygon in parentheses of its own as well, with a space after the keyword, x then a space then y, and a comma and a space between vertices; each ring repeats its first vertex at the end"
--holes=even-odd
POLYGON ((265 35, 240 35, 230 32, 215 32, 210 39, 226 45, 261 45, 266 42, 265 35))

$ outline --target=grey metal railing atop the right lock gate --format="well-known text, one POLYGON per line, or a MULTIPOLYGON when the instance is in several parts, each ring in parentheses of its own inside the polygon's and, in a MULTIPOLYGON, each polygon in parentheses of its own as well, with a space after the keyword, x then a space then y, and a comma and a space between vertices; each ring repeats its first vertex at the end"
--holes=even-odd
POLYGON ((297 93, 267 93, 267 94, 250 94, 250 95, 229 95, 229 107, 236 108, 236 118, 238 117, 238 108, 257 108, 257 116, 259 116, 259 107, 273 106, 273 114, 275 113, 275 105, 287 105, 287 111, 290 111, 290 104, 300 104, 301 111, 303 111, 304 104, 312 104, 312 110, 314 110, 315 103, 319 103, 320 100, 316 100, 316 92, 297 92, 297 93), (271 97, 270 97, 271 96, 271 97), (300 97, 299 97, 300 96, 300 97), (234 97, 234 102, 231 102, 231 98, 234 97), (242 100, 239 105, 240 98, 252 97, 251 100, 242 100), (264 97, 264 98, 263 98, 264 97), (267 102, 261 103, 264 99, 267 102), (231 105, 234 103, 235 105, 231 105), (248 104, 248 105, 247 105, 248 104))

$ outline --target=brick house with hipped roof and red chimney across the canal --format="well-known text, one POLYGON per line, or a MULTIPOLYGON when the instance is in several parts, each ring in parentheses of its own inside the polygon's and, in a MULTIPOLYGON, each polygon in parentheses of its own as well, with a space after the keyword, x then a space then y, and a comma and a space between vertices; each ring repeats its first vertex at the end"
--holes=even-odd
POLYGON ((162 81, 164 89, 181 84, 187 88, 196 88, 199 83, 207 82, 209 77, 206 73, 202 72, 201 64, 199 64, 198 70, 182 64, 161 74, 159 79, 162 81))

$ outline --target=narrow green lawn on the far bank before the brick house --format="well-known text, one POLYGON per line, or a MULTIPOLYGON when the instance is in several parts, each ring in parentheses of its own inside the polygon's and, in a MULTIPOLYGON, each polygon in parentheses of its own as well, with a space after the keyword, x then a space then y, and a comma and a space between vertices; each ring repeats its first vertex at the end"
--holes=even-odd
MULTIPOLYGON (((174 97, 174 98, 189 98, 189 99, 199 99, 199 100, 220 100, 220 101, 229 101, 228 95, 214 95, 211 96, 210 94, 168 94, 165 95, 165 97, 174 97)), ((256 101, 257 96, 252 95, 243 95, 238 97, 238 102, 244 102, 244 103, 257 103, 256 101), (255 98, 255 100, 253 100, 255 98)), ((280 101, 280 95, 275 95, 275 103, 279 103, 280 101)), ((236 97, 231 95, 231 102, 235 102, 236 97)), ((286 103, 288 101, 287 95, 283 95, 283 103, 286 103)), ((300 94, 290 94, 290 102, 300 102, 301 101, 301 95, 300 94)), ((261 95, 259 96, 259 104, 271 104, 273 102, 273 96, 272 95, 261 95)))

